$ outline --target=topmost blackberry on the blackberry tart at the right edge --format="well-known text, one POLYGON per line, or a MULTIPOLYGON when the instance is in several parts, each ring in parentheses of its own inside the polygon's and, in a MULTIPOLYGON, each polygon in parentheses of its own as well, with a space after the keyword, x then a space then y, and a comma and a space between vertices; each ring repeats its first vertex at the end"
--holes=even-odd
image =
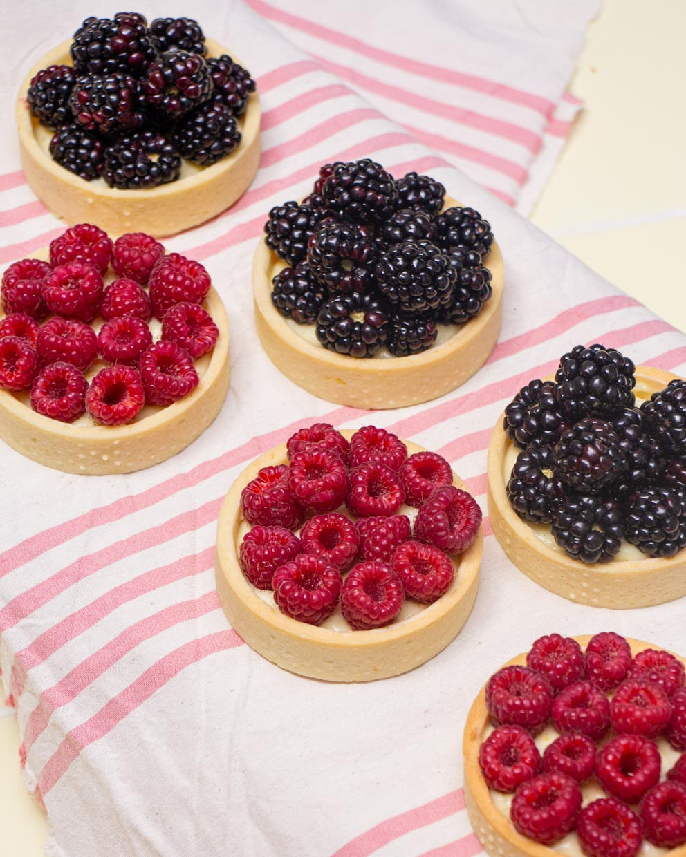
POLYGON ((634 406, 634 364, 605 345, 575 345, 560 359, 557 396, 570 417, 611 417, 634 406))

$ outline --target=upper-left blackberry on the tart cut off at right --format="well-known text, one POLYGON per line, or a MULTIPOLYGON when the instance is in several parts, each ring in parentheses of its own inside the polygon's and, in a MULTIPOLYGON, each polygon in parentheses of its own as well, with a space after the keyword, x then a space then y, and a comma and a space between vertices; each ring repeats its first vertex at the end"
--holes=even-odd
POLYGON ((515 446, 554 445, 569 428, 557 405, 554 381, 529 381, 505 408, 502 428, 515 446))

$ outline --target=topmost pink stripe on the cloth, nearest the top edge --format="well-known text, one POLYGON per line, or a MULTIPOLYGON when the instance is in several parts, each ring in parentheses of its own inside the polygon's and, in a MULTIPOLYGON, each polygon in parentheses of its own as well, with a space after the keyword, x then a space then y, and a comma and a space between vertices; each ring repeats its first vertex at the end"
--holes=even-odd
POLYGON ((322 27, 321 24, 316 24, 315 21, 291 15, 268 3, 263 3, 262 0, 248 0, 248 3, 253 9, 264 15, 265 18, 270 18, 272 21, 280 21, 280 23, 286 24, 287 27, 302 30, 304 33, 309 33, 318 39, 324 39, 332 42, 334 45, 364 54, 364 56, 370 57, 379 63, 407 71, 410 74, 428 77, 430 80, 441 81, 442 83, 451 83, 458 87, 490 95, 492 98, 509 101, 512 104, 522 105, 523 107, 530 107, 532 110, 539 111, 544 116, 550 116, 555 109, 554 102, 543 96, 526 93, 521 89, 508 87, 503 83, 489 81, 483 77, 466 75, 463 72, 454 71, 453 69, 442 69, 440 66, 430 63, 420 63, 418 60, 401 54, 383 51, 381 48, 374 47, 374 45, 367 45, 359 39, 353 39, 345 33, 337 33, 328 27, 322 27))

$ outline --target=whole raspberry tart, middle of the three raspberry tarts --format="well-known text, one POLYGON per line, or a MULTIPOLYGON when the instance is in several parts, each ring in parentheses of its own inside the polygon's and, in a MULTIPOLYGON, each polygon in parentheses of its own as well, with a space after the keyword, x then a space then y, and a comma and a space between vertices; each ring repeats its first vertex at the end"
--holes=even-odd
POLYGON ((256 458, 226 495, 220 602, 246 643, 293 673, 405 673, 465 624, 480 523, 440 456, 382 428, 316 423, 256 458))

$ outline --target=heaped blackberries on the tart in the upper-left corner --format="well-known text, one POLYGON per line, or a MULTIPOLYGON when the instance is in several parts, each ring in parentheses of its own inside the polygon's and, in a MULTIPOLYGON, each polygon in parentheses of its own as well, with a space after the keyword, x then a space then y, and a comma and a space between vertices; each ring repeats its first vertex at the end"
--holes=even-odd
POLYGON ((52 158, 119 189, 176 181, 183 158, 203 166, 226 158, 241 141, 255 81, 232 57, 207 52, 191 18, 87 18, 70 47, 73 65, 42 69, 28 87, 33 116, 55 129, 52 158))

